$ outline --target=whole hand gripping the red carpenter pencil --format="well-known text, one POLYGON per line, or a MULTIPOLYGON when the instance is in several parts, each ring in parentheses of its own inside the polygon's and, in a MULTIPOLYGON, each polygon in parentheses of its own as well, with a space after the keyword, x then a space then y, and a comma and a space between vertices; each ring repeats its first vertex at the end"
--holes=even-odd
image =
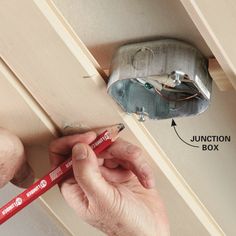
POLYGON ((107 235, 169 235, 168 220, 141 150, 121 139, 95 155, 95 132, 53 141, 52 167, 72 156, 73 175, 60 183, 67 203, 86 222, 107 235))

